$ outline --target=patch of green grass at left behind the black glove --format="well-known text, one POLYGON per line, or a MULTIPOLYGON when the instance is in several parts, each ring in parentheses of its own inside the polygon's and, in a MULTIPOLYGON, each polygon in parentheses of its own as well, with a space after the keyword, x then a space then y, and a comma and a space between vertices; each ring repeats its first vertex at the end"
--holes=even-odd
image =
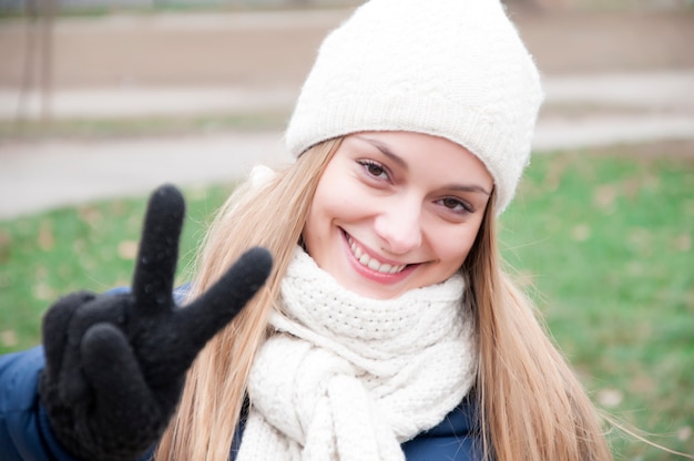
MULTIPOLYGON (((178 280, 231 185, 184 191, 178 280)), ((40 342, 40 318, 59 296, 130 285, 147 197, 115 199, 0 222, 0 354, 40 342)))

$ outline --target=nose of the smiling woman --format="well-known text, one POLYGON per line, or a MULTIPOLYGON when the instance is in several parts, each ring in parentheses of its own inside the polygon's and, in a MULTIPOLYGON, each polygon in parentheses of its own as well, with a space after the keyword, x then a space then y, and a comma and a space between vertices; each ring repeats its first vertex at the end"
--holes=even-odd
POLYGON ((404 255, 421 245, 421 202, 401 198, 390 203, 374 222, 376 234, 385 242, 384 249, 404 255))

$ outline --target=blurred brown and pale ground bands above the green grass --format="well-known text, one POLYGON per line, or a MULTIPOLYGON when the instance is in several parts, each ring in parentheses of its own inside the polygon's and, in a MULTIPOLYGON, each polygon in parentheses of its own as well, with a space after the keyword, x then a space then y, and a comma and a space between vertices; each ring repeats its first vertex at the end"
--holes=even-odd
MULTIPOLYGON (((356 4, 0 0, 0 217, 284 158, 316 49, 356 4), (102 172, 124 155, 142 167, 102 172)), ((535 150, 694 137, 692 0, 506 4, 544 73, 535 150)))

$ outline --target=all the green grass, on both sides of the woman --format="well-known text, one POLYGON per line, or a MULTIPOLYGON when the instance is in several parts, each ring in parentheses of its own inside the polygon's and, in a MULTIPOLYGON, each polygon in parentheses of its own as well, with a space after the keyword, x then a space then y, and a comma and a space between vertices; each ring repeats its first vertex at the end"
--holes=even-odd
MULTIPOLYGON (((694 158, 623 153, 535 155, 501 218, 503 253, 594 400, 694 453, 694 158)), ((229 189, 185 191, 180 268, 229 189)), ((129 283, 145 198, 0 223, 0 351, 38 344, 59 295, 129 283)), ((674 459, 611 439, 620 460, 674 459)))

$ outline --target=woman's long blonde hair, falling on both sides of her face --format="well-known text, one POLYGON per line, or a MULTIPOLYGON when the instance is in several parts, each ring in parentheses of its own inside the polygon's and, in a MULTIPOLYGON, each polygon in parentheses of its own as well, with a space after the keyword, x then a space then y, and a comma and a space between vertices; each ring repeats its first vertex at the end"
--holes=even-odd
MULTIPOLYGON (((316 191, 340 140, 304 153, 263 186, 244 186, 224 205, 198 258, 191 295, 204 290, 254 245, 275 265, 265 287, 201 351, 157 461, 225 461, 244 404, 246 380, 316 191)), ((549 340, 530 301, 500 268, 493 197, 461 270, 479 341, 476 386, 487 459, 611 459, 600 420, 580 382, 549 340)))

